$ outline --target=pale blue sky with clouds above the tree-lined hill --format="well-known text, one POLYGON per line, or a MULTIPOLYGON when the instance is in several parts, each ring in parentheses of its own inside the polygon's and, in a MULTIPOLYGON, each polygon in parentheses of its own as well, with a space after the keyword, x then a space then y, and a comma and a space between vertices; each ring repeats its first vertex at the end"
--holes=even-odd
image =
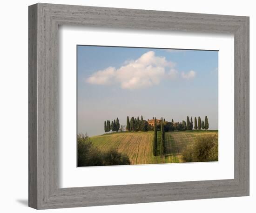
POLYGON ((77 46, 78 133, 104 133, 104 120, 186 120, 218 129, 218 52, 77 46))

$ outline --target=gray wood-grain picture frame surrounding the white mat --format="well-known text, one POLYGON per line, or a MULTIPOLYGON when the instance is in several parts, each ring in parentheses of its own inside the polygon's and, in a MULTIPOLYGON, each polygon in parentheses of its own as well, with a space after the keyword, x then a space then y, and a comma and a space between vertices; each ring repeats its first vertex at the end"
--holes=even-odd
POLYGON ((49 209, 249 195, 249 17, 42 3, 29 6, 28 17, 29 206, 49 209), (234 34, 235 178, 60 188, 59 25, 234 34))

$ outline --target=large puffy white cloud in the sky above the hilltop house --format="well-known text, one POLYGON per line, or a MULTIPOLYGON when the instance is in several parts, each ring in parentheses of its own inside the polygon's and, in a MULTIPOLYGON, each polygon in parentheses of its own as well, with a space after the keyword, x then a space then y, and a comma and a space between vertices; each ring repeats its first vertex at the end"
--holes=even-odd
POLYGON ((146 88, 158 85, 165 78, 177 78, 178 71, 174 67, 174 62, 148 51, 137 60, 125 61, 124 66, 118 69, 108 67, 97 71, 86 79, 86 82, 98 85, 119 83, 122 89, 130 90, 146 88))

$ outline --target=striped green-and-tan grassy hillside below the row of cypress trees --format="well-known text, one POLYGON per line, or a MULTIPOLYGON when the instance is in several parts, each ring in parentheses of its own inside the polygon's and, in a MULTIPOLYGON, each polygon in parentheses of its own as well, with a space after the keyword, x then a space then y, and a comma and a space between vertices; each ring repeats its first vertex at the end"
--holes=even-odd
MULTIPOLYGON (((131 164, 179 163, 182 162, 182 148, 193 143, 204 134, 218 134, 217 130, 192 130, 165 133, 165 156, 152 153, 153 131, 110 133, 91 137, 101 151, 116 148, 126 153, 131 164)), ((160 153, 160 132, 157 133, 157 154, 160 153)))

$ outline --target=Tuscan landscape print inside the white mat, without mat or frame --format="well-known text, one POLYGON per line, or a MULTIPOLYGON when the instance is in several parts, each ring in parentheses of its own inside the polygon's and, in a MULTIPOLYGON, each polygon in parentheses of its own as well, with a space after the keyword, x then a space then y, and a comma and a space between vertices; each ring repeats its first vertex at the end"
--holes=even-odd
POLYGON ((218 51, 77 45, 77 166, 218 161, 218 51))

